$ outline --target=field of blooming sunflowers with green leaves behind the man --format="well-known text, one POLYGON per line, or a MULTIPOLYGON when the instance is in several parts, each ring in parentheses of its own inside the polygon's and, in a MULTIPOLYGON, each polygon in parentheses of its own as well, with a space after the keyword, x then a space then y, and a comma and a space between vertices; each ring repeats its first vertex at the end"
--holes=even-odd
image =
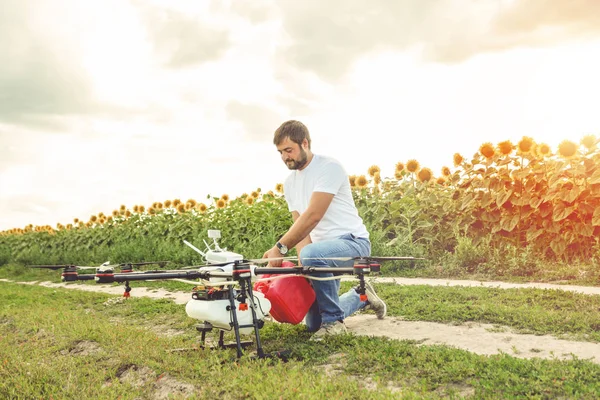
MULTIPOLYGON (((600 264, 599 140, 565 140, 552 151, 523 137, 484 143, 472 157, 456 153, 439 174, 417 160, 398 162, 393 176, 374 165, 350 176, 373 254, 412 255, 497 275, 532 275, 540 263, 600 264)), ((0 264, 63 264, 169 260, 201 263, 208 229, 221 245, 260 257, 292 220, 282 185, 230 199, 179 199, 75 218, 56 227, 0 233, 0 264)))

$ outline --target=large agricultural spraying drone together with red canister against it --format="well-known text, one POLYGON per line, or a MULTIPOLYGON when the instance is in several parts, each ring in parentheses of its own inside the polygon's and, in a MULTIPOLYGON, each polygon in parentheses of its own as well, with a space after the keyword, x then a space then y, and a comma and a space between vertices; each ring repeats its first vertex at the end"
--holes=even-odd
MULTIPOLYGON (((243 341, 242 334, 254 334, 256 341, 256 353, 258 358, 282 357, 282 353, 265 354, 260 341, 259 330, 264 326, 264 319, 267 315, 279 322, 289 322, 297 324, 310 308, 314 301, 314 291, 307 279, 340 279, 339 276, 332 278, 316 278, 311 275, 319 273, 333 273, 334 275, 350 274, 356 275, 359 280, 358 292, 362 301, 367 300, 365 290, 365 275, 380 271, 380 262, 392 260, 422 260, 415 257, 335 257, 328 260, 350 263, 350 267, 313 267, 313 266, 295 266, 289 260, 297 257, 280 257, 276 259, 245 259, 241 254, 237 254, 227 249, 221 248, 217 239, 221 237, 218 230, 209 230, 208 236, 213 240, 212 247, 206 241, 206 251, 201 251, 191 243, 184 240, 184 243, 194 251, 200 253, 206 265, 185 267, 177 270, 152 270, 136 271, 131 269, 115 272, 115 265, 107 263, 100 267, 79 267, 75 265, 38 265, 34 268, 63 268, 62 280, 64 282, 73 282, 77 280, 94 279, 97 283, 125 283, 125 297, 129 297, 131 281, 146 280, 178 280, 194 285, 191 299, 186 304, 186 313, 189 317, 201 321, 196 329, 201 332, 202 346, 206 346, 206 333, 214 328, 219 331, 219 348, 235 347, 237 357, 242 356, 243 348, 252 344, 252 341, 243 341), (291 266, 282 267, 259 267, 261 264, 267 264, 273 260, 284 260, 291 266), (95 268, 95 274, 78 274, 78 269, 95 268), (259 278, 260 276, 262 278, 259 278), (267 285, 279 281, 280 278, 292 278, 295 282, 288 281, 289 286, 276 293, 276 290, 265 290, 262 282, 268 282, 267 285), (254 287, 252 285, 254 281, 254 287), (302 286, 304 285, 304 286, 302 286), (304 292, 299 293, 296 288, 303 287, 304 292), (294 292, 294 290, 296 290, 294 292), (297 306, 296 303, 303 303, 297 306), (290 310, 290 303, 295 303, 295 310, 290 310), (225 343, 224 333, 233 331, 235 342, 225 343)), ((123 268, 126 265, 130 268, 133 265, 159 264, 165 265, 166 262, 148 262, 148 263, 128 263, 119 264, 123 268)), ((287 281, 287 280, 286 280, 287 281)), ((286 283, 288 283, 286 282, 286 283)), ((272 286, 272 288, 275 285, 272 286)), ((281 287, 280 287, 281 289, 281 287)), ((293 307, 292 307, 293 308, 293 307)))

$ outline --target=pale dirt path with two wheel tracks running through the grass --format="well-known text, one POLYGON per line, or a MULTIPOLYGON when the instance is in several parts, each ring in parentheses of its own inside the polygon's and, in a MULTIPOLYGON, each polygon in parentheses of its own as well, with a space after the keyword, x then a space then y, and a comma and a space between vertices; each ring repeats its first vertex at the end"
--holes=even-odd
MULTIPOLYGON (((0 281, 9 282, 6 279, 0 281)), ((436 286, 484 286, 498 288, 557 289, 575 291, 584 294, 600 295, 600 288, 551 285, 551 284, 513 284, 505 282, 453 281, 446 279, 418 278, 376 278, 374 282, 390 282, 403 285, 436 285, 436 286)), ((40 285, 51 288, 77 289, 90 292, 102 292, 121 296, 120 286, 73 285, 51 282, 19 282, 29 285, 40 285)), ((168 292, 162 289, 135 287, 132 296, 150 298, 168 298, 177 304, 185 304, 190 299, 187 292, 168 292)), ((600 344, 557 339, 553 336, 517 334, 510 328, 479 323, 463 325, 446 325, 435 322, 404 321, 401 318, 387 317, 378 320, 372 314, 358 314, 346 319, 348 330, 357 335, 383 336, 391 339, 416 340, 421 345, 445 344, 476 354, 491 355, 501 352, 520 358, 571 359, 576 356, 600 364, 600 344)))

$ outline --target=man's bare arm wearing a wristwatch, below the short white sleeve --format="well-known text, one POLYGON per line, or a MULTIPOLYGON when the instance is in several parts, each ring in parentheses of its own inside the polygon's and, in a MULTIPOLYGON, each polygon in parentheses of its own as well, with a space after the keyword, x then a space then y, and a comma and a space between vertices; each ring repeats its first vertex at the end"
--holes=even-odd
MULTIPOLYGON (((288 249, 297 247, 300 242, 309 236, 309 233, 314 229, 315 226, 317 226, 319 221, 321 221, 325 215, 325 212, 327 211, 327 208, 329 208, 329 205, 333 200, 333 196, 334 195, 331 193, 314 192, 310 197, 310 202, 306 211, 296 218, 290 229, 279 241, 286 245, 288 249)), ((306 245, 306 243, 302 244, 301 246, 303 247, 304 245, 306 245)), ((281 253, 279 252, 277 246, 273 246, 263 255, 263 257, 281 257, 281 253)), ((281 262, 273 262, 271 265, 277 267, 281 265, 281 262)))

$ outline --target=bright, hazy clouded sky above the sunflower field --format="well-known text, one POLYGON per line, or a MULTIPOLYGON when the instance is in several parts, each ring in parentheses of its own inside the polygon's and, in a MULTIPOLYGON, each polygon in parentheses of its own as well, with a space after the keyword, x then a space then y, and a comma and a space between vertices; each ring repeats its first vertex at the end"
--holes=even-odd
POLYGON ((273 189, 286 119, 349 173, 387 176, 485 141, 599 133, 584 0, 539 23, 533 0, 23 4, 0 16, 0 229, 273 189))

